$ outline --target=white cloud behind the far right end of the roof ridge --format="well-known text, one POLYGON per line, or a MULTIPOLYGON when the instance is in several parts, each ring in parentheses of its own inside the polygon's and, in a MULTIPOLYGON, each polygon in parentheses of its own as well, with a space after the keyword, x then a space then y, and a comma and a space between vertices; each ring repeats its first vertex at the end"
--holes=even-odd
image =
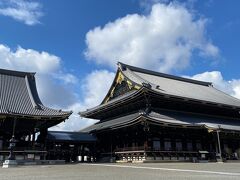
POLYGON ((212 82, 216 88, 240 99, 240 79, 225 80, 220 71, 204 72, 189 78, 212 82))

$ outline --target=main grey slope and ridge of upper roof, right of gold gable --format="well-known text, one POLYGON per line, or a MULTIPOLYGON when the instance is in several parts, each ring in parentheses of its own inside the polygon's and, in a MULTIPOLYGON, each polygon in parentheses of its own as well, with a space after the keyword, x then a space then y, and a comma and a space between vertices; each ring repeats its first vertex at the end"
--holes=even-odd
POLYGON ((131 81, 139 85, 150 84, 151 90, 161 94, 240 107, 239 99, 214 88, 209 82, 158 73, 123 63, 119 63, 119 67, 131 81))

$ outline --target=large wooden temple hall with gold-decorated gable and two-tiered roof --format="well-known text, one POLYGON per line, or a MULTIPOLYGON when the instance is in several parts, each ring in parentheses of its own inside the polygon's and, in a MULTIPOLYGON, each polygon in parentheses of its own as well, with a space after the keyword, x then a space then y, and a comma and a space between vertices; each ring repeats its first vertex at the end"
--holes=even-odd
POLYGON ((99 158, 216 161, 240 157, 240 100, 209 82, 118 63, 102 103, 80 115, 100 120, 82 130, 96 135, 99 158))

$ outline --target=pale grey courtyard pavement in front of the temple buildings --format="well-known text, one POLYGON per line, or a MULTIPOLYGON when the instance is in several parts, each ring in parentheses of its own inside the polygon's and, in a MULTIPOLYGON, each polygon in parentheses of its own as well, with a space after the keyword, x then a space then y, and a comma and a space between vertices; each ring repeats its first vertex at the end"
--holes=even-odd
POLYGON ((240 163, 66 164, 0 169, 0 180, 240 180, 240 163))

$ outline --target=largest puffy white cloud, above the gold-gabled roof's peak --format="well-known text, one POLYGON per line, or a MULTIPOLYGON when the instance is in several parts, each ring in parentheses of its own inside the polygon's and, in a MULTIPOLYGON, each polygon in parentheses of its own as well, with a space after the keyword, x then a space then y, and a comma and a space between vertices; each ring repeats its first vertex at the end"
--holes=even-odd
POLYGON ((193 51, 219 54, 206 38, 206 22, 179 4, 155 4, 148 15, 127 15, 90 30, 85 56, 110 67, 122 61, 162 72, 184 69, 193 51))

